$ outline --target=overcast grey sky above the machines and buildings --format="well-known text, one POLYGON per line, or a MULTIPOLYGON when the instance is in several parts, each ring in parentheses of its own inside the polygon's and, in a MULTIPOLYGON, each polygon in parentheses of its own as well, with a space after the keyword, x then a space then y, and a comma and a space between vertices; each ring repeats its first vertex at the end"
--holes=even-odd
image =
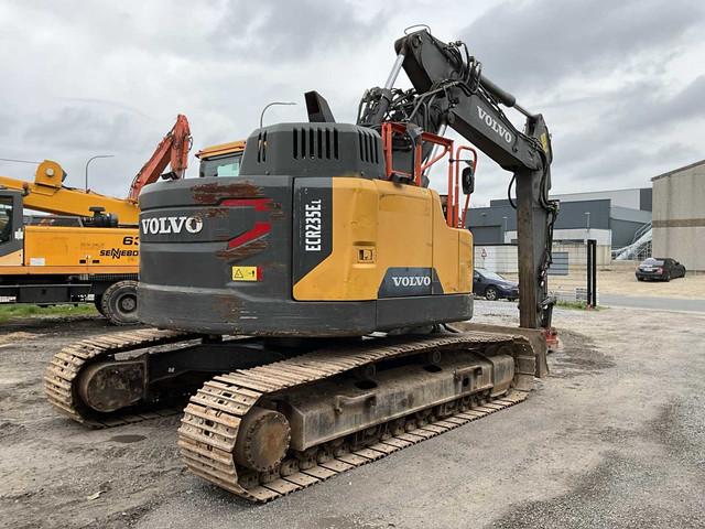
MULTIPOLYGON (((180 112, 192 154, 246 138, 273 100, 299 105, 271 108, 265 122, 305 120, 311 89, 354 120, 365 88, 383 84, 394 40, 425 23, 466 42, 487 76, 544 115, 554 192, 649 186, 705 158, 704 6, 0 0, 0 158, 58 161, 66 184, 83 186, 86 160, 113 154, 91 163, 90 186, 123 196, 180 112)), ((0 174, 31 180, 34 166, 0 162, 0 174)), ((509 180, 482 159, 475 203, 506 196, 509 180)), ((442 181, 432 185, 444 192, 442 181)))

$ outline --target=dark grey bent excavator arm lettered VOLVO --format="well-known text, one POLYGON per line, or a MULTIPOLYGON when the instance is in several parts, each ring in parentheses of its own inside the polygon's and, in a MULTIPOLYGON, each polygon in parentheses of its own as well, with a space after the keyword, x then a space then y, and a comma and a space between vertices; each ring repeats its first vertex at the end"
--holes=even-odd
MULTIPOLYGON (((387 83, 365 94, 358 123, 379 128, 384 121, 401 121, 440 134, 449 126, 513 173, 520 325, 550 328, 553 300, 546 280, 558 205, 549 199, 553 153, 543 117, 525 110, 511 94, 485 77, 481 64, 462 42, 444 43, 421 30, 398 40, 394 47, 397 61, 387 83), (411 90, 393 88, 401 68, 411 79, 411 90), (523 131, 512 125, 500 105, 527 117, 523 131)), ((408 150, 401 144, 399 154, 408 150)), ((430 155, 430 150, 424 151, 424 159, 430 155)))

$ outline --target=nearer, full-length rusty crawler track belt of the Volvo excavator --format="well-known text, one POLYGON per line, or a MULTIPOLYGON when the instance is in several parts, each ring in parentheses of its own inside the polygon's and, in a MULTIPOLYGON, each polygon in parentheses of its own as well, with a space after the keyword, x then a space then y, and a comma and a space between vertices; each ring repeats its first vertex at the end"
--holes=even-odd
POLYGON ((185 409, 178 446, 194 474, 249 500, 269 501, 523 401, 533 386, 534 361, 525 338, 486 333, 415 337, 412 341, 409 337, 387 338, 355 347, 316 350, 252 369, 239 369, 206 382, 185 409), (429 423, 410 420, 402 431, 386 429, 386 434, 364 447, 347 450, 341 443, 330 451, 321 445, 317 453, 310 454, 310 463, 290 454, 270 473, 248 471, 235 462, 240 421, 262 400, 380 360, 503 344, 511 344, 516 352, 516 376, 513 388, 498 399, 475 401, 469 408, 458 406, 457 412, 429 423))

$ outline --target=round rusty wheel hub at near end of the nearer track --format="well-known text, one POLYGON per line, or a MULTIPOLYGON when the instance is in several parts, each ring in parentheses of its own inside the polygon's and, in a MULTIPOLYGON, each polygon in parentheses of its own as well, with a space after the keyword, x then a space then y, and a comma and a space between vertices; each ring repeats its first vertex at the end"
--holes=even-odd
POLYGON ((271 472, 289 450, 291 428, 286 418, 274 410, 253 408, 238 428, 235 461, 258 472, 271 472))

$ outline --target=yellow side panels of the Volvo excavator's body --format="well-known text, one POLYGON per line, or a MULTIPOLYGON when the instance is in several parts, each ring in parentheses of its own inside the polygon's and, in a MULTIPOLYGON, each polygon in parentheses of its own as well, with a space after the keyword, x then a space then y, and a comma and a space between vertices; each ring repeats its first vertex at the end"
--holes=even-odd
POLYGON ((473 236, 446 224, 441 197, 425 187, 335 177, 333 251, 294 284, 297 301, 378 299, 393 268, 431 268, 444 294, 473 290, 473 236))

